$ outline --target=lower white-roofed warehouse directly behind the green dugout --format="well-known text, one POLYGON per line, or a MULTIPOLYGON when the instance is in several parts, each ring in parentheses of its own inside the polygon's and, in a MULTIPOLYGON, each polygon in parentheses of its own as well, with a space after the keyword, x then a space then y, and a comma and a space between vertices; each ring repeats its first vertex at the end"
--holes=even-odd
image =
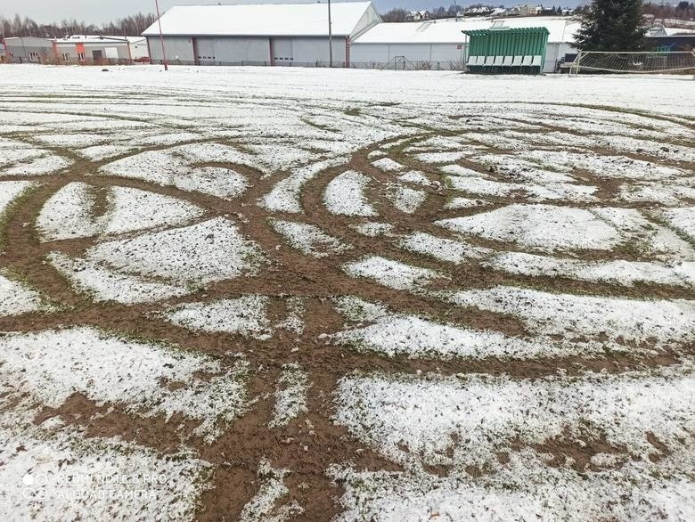
POLYGON ((527 17, 428 20, 413 23, 380 23, 351 43, 350 66, 379 69, 457 69, 468 56, 468 37, 463 30, 544 27, 548 45, 543 70, 552 72, 571 46, 579 21, 570 17, 527 17))

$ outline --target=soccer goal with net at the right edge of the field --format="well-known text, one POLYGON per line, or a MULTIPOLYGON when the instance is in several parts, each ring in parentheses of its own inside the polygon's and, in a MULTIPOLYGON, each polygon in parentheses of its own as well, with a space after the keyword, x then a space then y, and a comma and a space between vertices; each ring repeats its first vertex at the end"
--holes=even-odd
POLYGON ((695 73, 695 51, 647 53, 599 53, 582 51, 576 55, 569 72, 603 71, 617 73, 695 73))

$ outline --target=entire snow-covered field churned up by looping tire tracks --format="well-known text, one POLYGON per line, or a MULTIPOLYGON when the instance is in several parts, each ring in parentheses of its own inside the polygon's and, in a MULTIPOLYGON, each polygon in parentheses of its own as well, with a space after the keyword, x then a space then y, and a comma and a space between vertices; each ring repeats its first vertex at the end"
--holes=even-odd
POLYGON ((6 518, 695 518, 688 78, 0 88, 6 518))

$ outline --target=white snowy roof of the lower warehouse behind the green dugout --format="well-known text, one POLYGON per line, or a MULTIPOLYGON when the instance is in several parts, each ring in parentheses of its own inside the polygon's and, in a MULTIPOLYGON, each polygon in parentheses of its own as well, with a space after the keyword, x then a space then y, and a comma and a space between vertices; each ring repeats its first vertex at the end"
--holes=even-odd
POLYGON ((356 44, 457 44, 466 42, 463 30, 490 29, 494 21, 503 21, 511 29, 544 27, 550 31, 548 42, 571 42, 579 21, 569 17, 531 16, 508 19, 462 21, 421 21, 380 23, 357 37, 356 44))

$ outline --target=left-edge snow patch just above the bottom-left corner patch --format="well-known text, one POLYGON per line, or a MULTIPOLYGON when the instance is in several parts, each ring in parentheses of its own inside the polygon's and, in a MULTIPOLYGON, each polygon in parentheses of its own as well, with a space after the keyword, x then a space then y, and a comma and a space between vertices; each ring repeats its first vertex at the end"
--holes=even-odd
POLYGON ((244 411, 248 364, 223 369, 216 359, 127 340, 87 327, 0 336, 0 360, 11 380, 52 408, 74 393, 129 412, 200 420, 195 433, 211 441, 244 411), (198 372, 212 374, 196 377, 198 372), (175 389, 164 382, 180 383, 175 389))

